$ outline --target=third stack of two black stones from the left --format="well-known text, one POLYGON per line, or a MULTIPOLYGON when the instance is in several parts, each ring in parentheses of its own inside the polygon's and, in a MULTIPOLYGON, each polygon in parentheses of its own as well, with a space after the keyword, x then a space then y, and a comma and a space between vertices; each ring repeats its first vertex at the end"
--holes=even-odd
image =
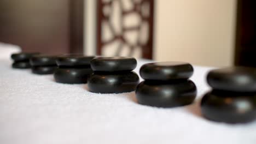
POLYGON ((64 55, 58 57, 58 68, 54 72, 56 82, 60 83, 87 83, 88 76, 92 74, 90 61, 94 56, 64 55))

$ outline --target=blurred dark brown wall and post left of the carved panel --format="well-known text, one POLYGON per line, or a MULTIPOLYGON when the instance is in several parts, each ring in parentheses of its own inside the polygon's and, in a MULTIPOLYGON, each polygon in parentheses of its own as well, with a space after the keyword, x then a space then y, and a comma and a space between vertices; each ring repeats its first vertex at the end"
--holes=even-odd
POLYGON ((84 0, 48 2, 0 1, 0 41, 27 52, 83 53, 84 0))

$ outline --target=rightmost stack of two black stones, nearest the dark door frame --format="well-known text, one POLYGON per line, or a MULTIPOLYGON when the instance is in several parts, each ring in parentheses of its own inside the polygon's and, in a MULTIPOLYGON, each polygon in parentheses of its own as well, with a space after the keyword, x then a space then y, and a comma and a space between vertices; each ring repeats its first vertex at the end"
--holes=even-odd
POLYGON ((256 118, 256 69, 231 67, 211 70, 213 89, 201 101, 202 115, 225 123, 247 123, 256 118))

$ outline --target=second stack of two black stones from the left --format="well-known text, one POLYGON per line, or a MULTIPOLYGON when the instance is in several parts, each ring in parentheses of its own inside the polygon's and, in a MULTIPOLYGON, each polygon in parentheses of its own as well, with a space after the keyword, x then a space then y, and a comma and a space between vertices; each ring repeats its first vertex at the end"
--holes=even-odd
POLYGON ((56 56, 37 55, 30 58, 32 73, 39 75, 53 74, 57 68, 56 56))

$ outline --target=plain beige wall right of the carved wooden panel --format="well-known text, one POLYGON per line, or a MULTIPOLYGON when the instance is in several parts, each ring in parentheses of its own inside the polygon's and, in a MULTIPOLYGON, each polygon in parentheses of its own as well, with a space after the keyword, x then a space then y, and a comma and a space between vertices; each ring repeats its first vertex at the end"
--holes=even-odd
POLYGON ((156 61, 233 64, 236 0, 159 0, 155 8, 156 61))

